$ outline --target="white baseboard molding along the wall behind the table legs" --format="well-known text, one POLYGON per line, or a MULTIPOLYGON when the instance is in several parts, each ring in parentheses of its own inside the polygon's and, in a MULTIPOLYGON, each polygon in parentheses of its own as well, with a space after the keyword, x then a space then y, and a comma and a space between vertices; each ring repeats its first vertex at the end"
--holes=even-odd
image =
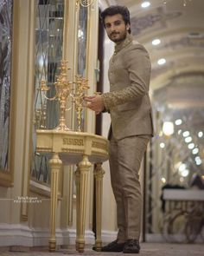
MULTIPOLYGON (((0 223, 0 246, 48 246, 49 230, 30 228, 22 224, 0 223)), ((74 245, 76 239, 75 229, 56 229, 57 245, 74 245)), ((93 245, 94 233, 91 230, 85 232, 86 243, 93 245)))

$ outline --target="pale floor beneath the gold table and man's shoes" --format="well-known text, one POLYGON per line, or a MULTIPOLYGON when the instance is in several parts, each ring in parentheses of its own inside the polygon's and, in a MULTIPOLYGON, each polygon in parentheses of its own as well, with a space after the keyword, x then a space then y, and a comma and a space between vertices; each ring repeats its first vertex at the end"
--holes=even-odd
MULTIPOLYGON (((203 256, 204 255, 204 244, 165 244, 165 243, 142 243, 141 251, 139 253, 142 256, 203 256)), ((122 256, 130 255, 126 253, 97 253, 92 251, 91 246, 86 246, 84 253, 78 253, 75 251, 74 246, 70 246, 65 249, 57 249, 54 253, 49 253, 48 248, 45 247, 22 247, 22 246, 11 246, 11 247, 0 247, 1 256, 122 256)), ((137 254, 131 254, 137 255, 137 254)))

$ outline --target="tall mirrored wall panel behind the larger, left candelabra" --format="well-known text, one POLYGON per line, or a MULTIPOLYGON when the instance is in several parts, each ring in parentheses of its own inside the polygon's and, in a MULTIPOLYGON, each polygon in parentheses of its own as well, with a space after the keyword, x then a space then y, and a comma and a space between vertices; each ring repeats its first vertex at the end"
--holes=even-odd
POLYGON ((48 158, 35 152, 35 130, 55 128, 59 120, 59 104, 48 101, 55 95, 54 82, 59 74, 63 43, 63 0, 35 0, 35 127, 33 131, 33 163, 31 176, 49 183, 48 158), (46 81, 48 91, 39 88, 46 81))

